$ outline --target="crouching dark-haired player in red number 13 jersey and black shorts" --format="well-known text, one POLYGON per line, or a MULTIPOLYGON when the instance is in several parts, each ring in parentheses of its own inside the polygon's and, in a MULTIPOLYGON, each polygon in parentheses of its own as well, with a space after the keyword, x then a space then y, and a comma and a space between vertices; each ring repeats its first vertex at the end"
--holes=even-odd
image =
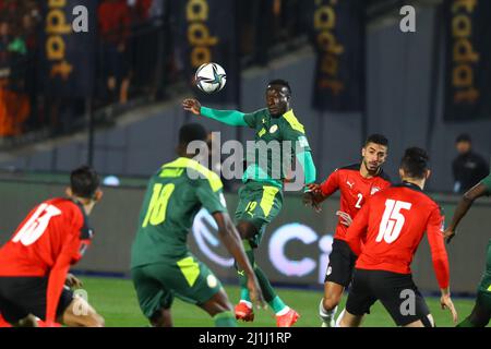
POLYGON ((104 318, 69 287, 68 274, 82 258, 93 230, 87 216, 103 197, 99 176, 89 167, 70 174, 67 198, 47 200, 21 222, 0 250, 0 313, 14 326, 104 326, 104 318))

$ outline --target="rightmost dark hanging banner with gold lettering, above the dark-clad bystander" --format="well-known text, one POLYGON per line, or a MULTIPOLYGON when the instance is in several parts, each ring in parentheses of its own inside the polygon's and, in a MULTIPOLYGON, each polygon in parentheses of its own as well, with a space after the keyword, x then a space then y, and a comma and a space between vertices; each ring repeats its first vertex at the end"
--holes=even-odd
POLYGON ((491 1, 446 0, 444 13, 444 118, 491 118, 491 1))

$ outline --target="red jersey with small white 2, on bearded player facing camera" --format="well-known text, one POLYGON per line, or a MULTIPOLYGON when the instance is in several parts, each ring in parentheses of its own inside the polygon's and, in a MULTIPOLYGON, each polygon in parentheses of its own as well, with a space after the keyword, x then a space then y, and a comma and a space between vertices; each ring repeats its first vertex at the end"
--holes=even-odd
MULTIPOLYGON (((360 173, 360 166, 361 164, 356 164, 339 168, 321 184, 324 196, 330 196, 337 190, 340 191, 339 210, 347 213, 351 219, 355 219, 370 196, 391 186, 391 180, 383 170, 379 176, 363 178, 360 173)), ((345 240, 347 230, 348 227, 343 225, 339 219, 334 238, 345 240)))

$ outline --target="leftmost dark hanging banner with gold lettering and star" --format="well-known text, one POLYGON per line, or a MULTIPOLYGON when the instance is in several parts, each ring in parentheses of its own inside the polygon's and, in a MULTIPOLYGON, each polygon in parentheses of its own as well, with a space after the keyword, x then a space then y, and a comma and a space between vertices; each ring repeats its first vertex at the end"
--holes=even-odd
POLYGON ((94 92, 97 1, 43 1, 38 89, 44 95, 88 97, 94 92))

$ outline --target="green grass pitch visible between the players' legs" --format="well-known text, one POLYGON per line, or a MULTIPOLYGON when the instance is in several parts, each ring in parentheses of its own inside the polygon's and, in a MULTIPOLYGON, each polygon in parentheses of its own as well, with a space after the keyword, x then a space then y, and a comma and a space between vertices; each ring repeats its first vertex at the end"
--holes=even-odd
MULTIPOLYGON (((81 280, 84 282, 84 289, 88 292, 89 303, 105 317, 106 326, 143 327, 148 325, 140 311, 131 280, 95 277, 81 277, 81 280)), ((239 297, 239 288, 227 286, 226 289, 230 301, 235 303, 239 297)), ((300 313, 301 317, 296 326, 320 326, 318 306, 322 297, 321 291, 291 289, 278 289, 277 291, 288 305, 300 313)), ((346 298, 344 298, 344 301, 346 301, 346 298)), ((427 302, 439 327, 453 326, 450 312, 440 309, 439 299, 427 298, 427 302)), ((474 301, 467 299, 455 299, 454 303, 457 308, 459 320, 466 317, 474 305, 474 301)), ((214 326, 213 321, 204 311, 180 300, 176 300, 172 305, 172 317, 175 326, 178 327, 214 326)), ((256 311, 255 320, 252 324, 241 323, 240 325, 244 327, 271 327, 276 325, 276 321, 272 310, 267 309, 256 311)), ((363 326, 394 327, 395 325, 382 305, 376 303, 372 308, 371 315, 366 317, 363 326)))

